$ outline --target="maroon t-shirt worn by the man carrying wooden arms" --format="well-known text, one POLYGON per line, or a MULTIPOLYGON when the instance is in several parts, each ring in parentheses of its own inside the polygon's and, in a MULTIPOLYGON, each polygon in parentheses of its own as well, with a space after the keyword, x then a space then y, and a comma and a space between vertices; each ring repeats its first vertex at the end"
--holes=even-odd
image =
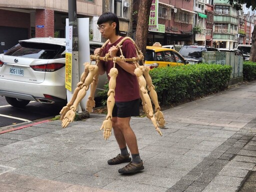
MULTIPOLYGON (((103 49, 103 55, 108 52, 108 49, 112 46, 115 46, 123 37, 120 37, 117 41, 112 44, 107 44, 103 49)), ((136 57, 136 49, 134 44, 126 39, 121 46, 122 54, 125 58, 136 57)), ((118 50, 117 56, 120 56, 121 53, 118 50)), ((132 63, 130 63, 132 64, 132 63)), ((108 76, 109 70, 113 67, 113 61, 109 60, 107 62, 103 62, 103 66, 105 67, 108 80, 110 77, 108 76)), ((115 63, 115 67, 118 70, 118 75, 116 77, 116 86, 115 86, 115 101, 130 101, 137 98, 139 96, 139 88, 138 88, 138 80, 136 75, 132 75, 129 72, 125 71, 120 67, 117 62, 115 63)))

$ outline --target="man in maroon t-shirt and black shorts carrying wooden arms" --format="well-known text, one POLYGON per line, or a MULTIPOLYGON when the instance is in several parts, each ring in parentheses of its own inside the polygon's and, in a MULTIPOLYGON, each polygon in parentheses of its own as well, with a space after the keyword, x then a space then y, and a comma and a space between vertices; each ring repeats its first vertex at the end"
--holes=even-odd
MULTIPOLYGON (((97 21, 98 29, 109 43, 101 50, 97 48, 94 54, 104 56, 110 53, 110 57, 120 56, 120 51, 115 45, 123 38, 119 35, 119 20, 114 13, 105 12, 97 21)), ((122 53, 125 58, 136 57, 134 44, 129 40, 122 43, 122 53)), ((109 73, 113 67, 112 61, 101 61, 98 63, 99 74, 109 73)), ((107 161, 108 164, 120 164, 129 162, 126 166, 118 169, 119 173, 135 173, 144 169, 143 162, 140 159, 137 140, 133 130, 130 127, 131 116, 139 115, 139 87, 137 77, 134 75, 136 66, 132 62, 116 61, 115 67, 118 70, 115 86, 115 104, 112 110, 112 128, 115 139, 120 148, 120 154, 107 161), (130 150, 131 158, 126 147, 130 150)), ((107 75, 108 79, 109 76, 107 75)))

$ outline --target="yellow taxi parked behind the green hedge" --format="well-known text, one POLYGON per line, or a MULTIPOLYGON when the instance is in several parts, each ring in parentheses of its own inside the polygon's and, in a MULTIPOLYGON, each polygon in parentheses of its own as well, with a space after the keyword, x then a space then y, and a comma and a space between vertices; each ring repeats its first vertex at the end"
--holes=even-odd
POLYGON ((178 66, 187 64, 188 61, 174 49, 162 47, 160 43, 155 42, 153 46, 146 46, 144 65, 150 68, 178 66))

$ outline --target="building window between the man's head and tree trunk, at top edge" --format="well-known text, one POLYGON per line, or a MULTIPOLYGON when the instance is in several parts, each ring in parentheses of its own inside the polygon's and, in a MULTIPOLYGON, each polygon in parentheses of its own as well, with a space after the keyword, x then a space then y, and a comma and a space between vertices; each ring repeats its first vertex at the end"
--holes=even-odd
POLYGON ((128 18, 129 3, 125 0, 111 0, 110 7, 118 17, 128 18), (124 6, 125 3, 125 6, 124 6))

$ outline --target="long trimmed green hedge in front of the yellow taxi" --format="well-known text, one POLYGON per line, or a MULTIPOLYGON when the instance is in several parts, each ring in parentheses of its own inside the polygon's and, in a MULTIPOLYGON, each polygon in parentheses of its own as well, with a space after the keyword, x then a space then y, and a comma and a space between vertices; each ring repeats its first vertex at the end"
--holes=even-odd
POLYGON ((224 90, 232 67, 219 64, 195 64, 150 70, 152 83, 162 104, 193 100, 224 90))

